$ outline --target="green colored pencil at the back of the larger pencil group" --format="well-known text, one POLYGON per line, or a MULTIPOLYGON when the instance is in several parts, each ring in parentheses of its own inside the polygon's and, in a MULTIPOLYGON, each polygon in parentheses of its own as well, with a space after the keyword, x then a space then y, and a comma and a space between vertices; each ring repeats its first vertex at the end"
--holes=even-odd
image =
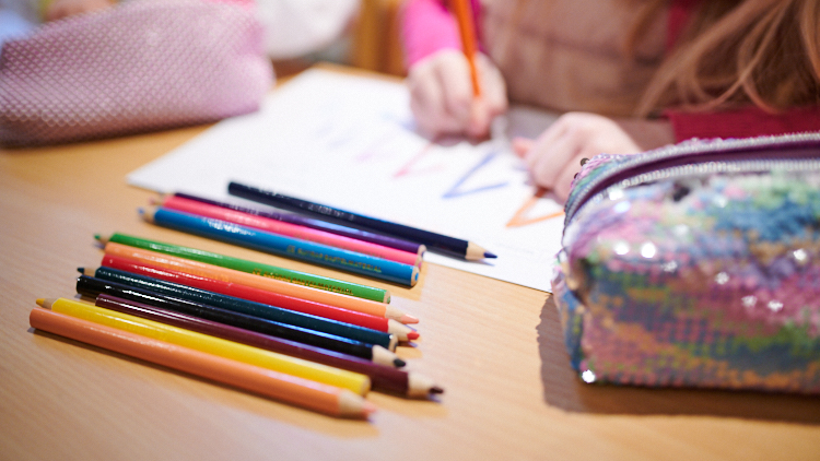
POLYGON ((281 280, 284 282, 295 283, 298 285, 305 285, 312 288, 341 293, 343 295, 355 296, 364 299, 375 300, 378 303, 390 303, 390 292, 373 286, 360 285, 358 283, 344 282, 342 280, 308 274, 306 272, 293 271, 276 265, 263 264, 261 262, 232 258, 230 256, 198 250, 196 248, 164 244, 162 241, 149 240, 147 238, 133 237, 126 234, 115 233, 109 237, 103 237, 99 234, 96 234, 94 235, 94 238, 99 240, 103 245, 107 244, 108 241, 113 241, 115 244, 127 245, 129 247, 142 248, 144 250, 156 251, 179 258, 190 259, 192 261, 206 262, 226 269, 233 269, 236 271, 248 272, 251 274, 281 280))

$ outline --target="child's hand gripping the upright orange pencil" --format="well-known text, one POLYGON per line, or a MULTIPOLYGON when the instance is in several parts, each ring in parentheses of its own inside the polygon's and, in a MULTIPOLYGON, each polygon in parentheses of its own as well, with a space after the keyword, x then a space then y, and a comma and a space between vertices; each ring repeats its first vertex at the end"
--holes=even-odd
POLYGON ((481 97, 475 98, 470 67, 461 51, 435 52, 410 68, 410 108, 421 129, 430 134, 467 134, 484 138, 492 119, 507 109, 506 86, 499 69, 478 55, 481 97))

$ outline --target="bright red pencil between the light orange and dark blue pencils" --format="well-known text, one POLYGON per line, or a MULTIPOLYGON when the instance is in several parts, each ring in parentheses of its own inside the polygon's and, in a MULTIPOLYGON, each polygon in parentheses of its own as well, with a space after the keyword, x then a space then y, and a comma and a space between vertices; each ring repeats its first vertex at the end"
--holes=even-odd
MULTIPOLYGON (((192 286, 195 288, 206 289, 221 295, 233 296, 242 299, 253 300, 269 306, 281 307, 282 309, 295 310, 312 316, 324 317, 344 323, 352 323, 363 328, 382 331, 394 334, 399 341, 410 341, 419 339, 419 333, 410 327, 405 326, 393 319, 371 316, 368 314, 356 312, 354 310, 342 309, 326 304, 314 303, 307 299, 294 298, 291 296, 280 295, 278 293, 265 289, 254 288, 253 286, 239 285, 236 283, 222 282, 214 279, 202 277, 187 274, 185 272, 163 269, 157 265, 144 264, 136 260, 118 256, 106 255, 103 257, 103 267, 118 269, 132 274, 145 275, 166 282, 178 283, 180 285, 192 286)), ((93 269, 91 270, 94 271, 93 269)))

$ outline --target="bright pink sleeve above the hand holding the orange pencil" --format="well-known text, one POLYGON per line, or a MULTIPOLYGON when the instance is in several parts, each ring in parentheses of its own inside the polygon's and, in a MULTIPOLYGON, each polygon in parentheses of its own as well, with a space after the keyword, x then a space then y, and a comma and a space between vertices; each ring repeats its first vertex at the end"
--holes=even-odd
POLYGON ((441 49, 461 49, 458 25, 441 0, 408 0, 401 15, 401 39, 410 67, 441 49))

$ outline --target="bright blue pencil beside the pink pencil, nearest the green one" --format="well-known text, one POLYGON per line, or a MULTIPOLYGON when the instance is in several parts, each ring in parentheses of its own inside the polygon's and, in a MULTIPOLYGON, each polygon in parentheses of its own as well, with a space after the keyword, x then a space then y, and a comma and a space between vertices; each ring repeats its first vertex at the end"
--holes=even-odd
POLYGON ((144 211, 141 210, 140 212, 145 221, 163 227, 285 258, 341 269, 407 286, 413 286, 419 281, 419 268, 415 265, 402 264, 355 251, 284 237, 226 221, 202 217, 164 208, 154 206, 144 211))

